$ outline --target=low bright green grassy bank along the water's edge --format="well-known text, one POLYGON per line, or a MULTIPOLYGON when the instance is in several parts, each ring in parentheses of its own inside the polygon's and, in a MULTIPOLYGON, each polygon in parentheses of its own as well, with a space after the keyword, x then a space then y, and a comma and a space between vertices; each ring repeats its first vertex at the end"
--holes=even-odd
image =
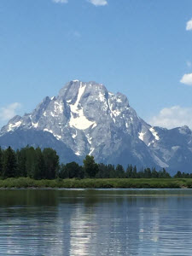
POLYGON ((181 189, 192 188, 192 178, 105 178, 33 180, 29 177, 0 180, 0 188, 66 189, 181 189))

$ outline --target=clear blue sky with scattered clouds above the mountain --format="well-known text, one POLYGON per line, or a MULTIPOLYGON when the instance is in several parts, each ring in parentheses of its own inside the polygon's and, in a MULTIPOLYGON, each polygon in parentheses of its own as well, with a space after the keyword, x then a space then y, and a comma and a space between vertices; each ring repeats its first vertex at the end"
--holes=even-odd
POLYGON ((191 45, 191 0, 1 0, 0 126, 80 79, 192 128, 191 45))

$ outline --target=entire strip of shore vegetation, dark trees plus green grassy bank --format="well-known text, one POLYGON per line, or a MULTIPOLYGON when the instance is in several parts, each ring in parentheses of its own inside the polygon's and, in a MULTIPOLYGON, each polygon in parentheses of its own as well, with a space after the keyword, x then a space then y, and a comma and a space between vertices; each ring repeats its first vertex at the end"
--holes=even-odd
POLYGON ((192 174, 177 172, 174 177, 163 168, 140 168, 97 164, 86 155, 83 166, 60 164, 52 148, 27 146, 20 150, 0 148, 0 188, 61 189, 181 189, 192 188, 192 174))

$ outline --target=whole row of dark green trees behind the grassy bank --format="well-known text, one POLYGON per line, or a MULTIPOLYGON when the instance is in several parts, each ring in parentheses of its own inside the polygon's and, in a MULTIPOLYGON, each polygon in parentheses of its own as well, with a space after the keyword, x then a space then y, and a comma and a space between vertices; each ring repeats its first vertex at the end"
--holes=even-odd
MULTIPOLYGON (((97 164, 93 156, 86 155, 84 165, 76 162, 61 164, 59 156, 52 148, 26 146, 20 150, 0 148, 0 177, 31 177, 34 179, 60 178, 171 178, 166 169, 159 172, 155 168, 137 170, 137 166, 97 164)), ((192 174, 177 172, 174 177, 192 177, 192 174)))

